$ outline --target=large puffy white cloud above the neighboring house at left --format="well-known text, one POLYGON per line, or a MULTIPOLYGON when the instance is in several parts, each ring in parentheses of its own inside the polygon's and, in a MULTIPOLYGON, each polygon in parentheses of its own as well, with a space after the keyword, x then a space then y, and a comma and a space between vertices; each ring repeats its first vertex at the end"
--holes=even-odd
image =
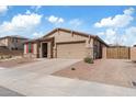
POLYGON ((43 15, 36 13, 18 14, 0 25, 0 35, 27 35, 41 23, 43 15))

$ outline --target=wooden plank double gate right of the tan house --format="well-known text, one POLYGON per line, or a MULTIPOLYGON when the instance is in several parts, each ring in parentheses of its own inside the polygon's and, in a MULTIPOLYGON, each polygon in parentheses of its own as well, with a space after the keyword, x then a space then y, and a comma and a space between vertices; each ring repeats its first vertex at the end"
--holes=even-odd
POLYGON ((106 49, 106 58, 129 59, 129 47, 110 47, 106 49))

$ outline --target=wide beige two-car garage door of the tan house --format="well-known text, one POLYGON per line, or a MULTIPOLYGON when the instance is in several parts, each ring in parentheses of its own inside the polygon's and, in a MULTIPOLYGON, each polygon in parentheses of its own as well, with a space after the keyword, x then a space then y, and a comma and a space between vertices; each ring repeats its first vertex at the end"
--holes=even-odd
POLYGON ((84 58, 86 43, 57 44, 57 58, 84 58))

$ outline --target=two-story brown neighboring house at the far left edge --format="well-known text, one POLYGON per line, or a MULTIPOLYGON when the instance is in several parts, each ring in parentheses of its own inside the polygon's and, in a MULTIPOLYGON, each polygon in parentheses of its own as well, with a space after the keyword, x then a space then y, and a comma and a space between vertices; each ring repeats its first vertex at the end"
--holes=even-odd
POLYGON ((0 47, 7 47, 10 50, 20 50, 23 49, 23 44, 26 41, 27 38, 19 35, 4 36, 0 37, 0 47))

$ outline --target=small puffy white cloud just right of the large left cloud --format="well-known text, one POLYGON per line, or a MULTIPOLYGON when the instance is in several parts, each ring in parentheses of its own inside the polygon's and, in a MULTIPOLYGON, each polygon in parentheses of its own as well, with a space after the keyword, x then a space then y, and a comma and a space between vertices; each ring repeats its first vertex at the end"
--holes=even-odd
POLYGON ((65 20, 63 18, 58 18, 55 15, 50 15, 49 18, 46 18, 48 22, 53 23, 53 24, 59 24, 59 23, 64 23, 65 20))

